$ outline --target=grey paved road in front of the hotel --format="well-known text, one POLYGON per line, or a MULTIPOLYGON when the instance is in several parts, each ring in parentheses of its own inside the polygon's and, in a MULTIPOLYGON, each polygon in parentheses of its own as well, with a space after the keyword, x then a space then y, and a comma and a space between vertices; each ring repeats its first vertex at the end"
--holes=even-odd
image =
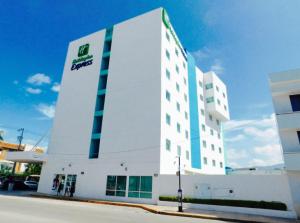
POLYGON ((215 223, 147 211, 73 201, 0 195, 0 221, 8 223, 215 223))

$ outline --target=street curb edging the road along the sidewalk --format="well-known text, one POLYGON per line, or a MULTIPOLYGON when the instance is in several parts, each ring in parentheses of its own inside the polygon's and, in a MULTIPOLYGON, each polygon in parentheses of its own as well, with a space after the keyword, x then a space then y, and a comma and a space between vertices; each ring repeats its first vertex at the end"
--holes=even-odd
POLYGON ((207 214, 193 214, 193 213, 184 213, 184 212, 170 212, 170 211, 159 211, 154 208, 147 207, 143 204, 132 204, 132 203, 123 203, 123 202, 114 202, 114 201, 100 201, 100 200, 90 200, 90 199, 80 199, 80 198, 68 198, 68 197, 56 197, 51 195, 44 194, 30 194, 31 197, 36 198, 46 198, 53 200, 64 200, 64 201, 77 201, 84 203, 92 203, 92 204, 103 204, 103 205, 113 205, 113 206, 123 206, 123 207, 132 207, 132 208, 140 208, 145 211, 161 214, 161 215, 169 215, 169 216, 177 216, 177 217, 190 217, 190 218, 201 218, 208 220, 220 220, 220 221, 229 221, 229 222, 246 222, 246 223, 267 223, 268 221, 261 220, 249 220, 249 219, 233 219, 233 218, 224 218, 207 214))

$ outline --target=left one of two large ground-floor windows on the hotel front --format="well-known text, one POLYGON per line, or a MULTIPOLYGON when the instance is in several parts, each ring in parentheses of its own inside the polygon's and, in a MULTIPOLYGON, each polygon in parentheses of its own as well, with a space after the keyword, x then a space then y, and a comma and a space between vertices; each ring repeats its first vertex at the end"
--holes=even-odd
POLYGON ((125 197, 126 176, 107 176, 106 196, 125 197))

